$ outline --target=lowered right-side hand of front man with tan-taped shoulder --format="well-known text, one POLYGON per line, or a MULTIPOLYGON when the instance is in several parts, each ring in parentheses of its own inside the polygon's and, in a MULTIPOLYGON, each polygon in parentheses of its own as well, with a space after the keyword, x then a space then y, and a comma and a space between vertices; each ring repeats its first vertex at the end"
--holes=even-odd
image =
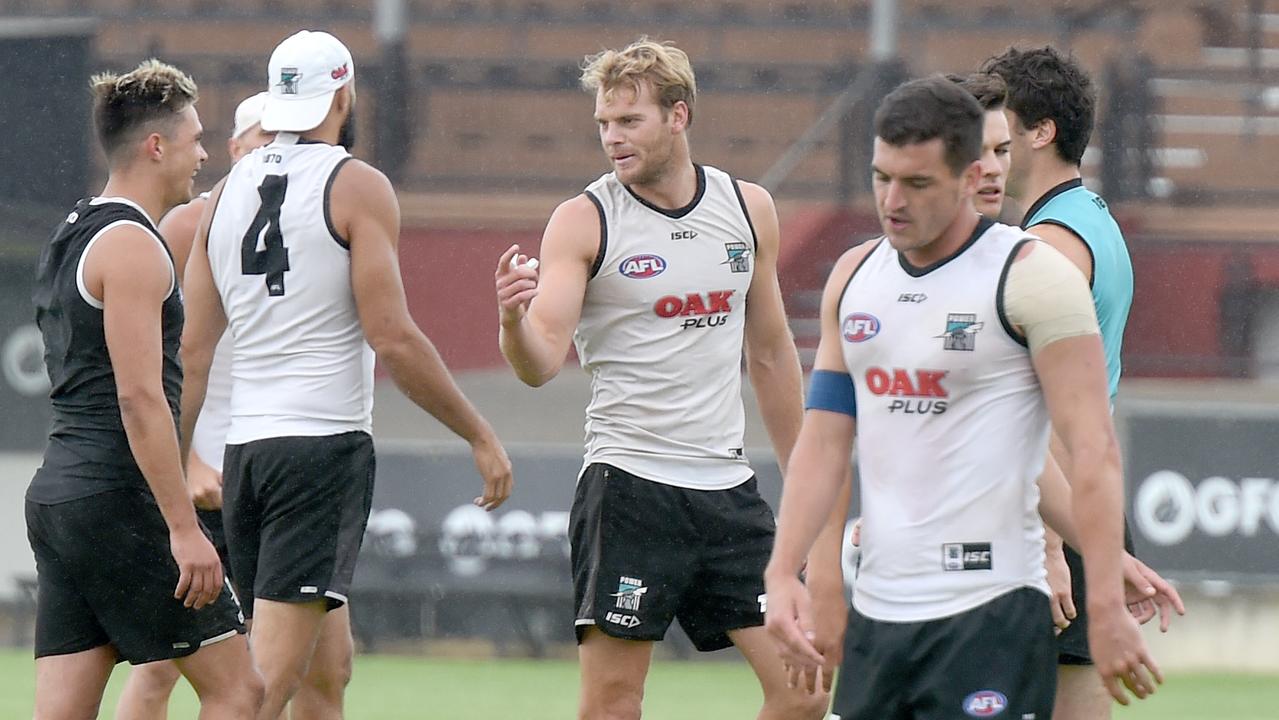
POLYGON ((1124 688, 1145 698, 1164 682, 1137 622, 1118 604, 1088 606, 1088 648, 1101 683, 1119 705, 1129 702, 1124 688))

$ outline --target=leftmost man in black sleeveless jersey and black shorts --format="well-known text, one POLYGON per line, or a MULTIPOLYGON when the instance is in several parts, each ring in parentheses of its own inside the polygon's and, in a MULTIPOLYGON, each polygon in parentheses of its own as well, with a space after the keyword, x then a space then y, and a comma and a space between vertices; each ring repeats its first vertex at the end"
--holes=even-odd
POLYGON ((35 292, 54 407, 26 503, 35 716, 95 717, 116 662, 175 660, 202 719, 248 717, 262 680, 183 482, 183 307, 152 220, 191 200, 207 157, 197 90, 155 60, 92 87, 106 187, 54 230, 35 292))

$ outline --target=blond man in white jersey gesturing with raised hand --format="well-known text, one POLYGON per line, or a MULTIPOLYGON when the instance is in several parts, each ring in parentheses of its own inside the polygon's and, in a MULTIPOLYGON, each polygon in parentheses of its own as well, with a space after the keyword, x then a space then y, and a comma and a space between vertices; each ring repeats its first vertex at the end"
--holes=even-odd
POLYGON ((495 274, 515 375, 549 381, 570 339, 591 373, 570 519, 578 716, 640 717, 652 643, 678 619, 698 650, 746 655, 760 717, 820 717, 826 698, 787 688, 764 633, 774 519, 742 451, 743 344, 783 469, 802 419, 773 198, 692 161, 679 49, 600 52, 582 87, 613 171, 555 210, 540 261, 513 246, 495 274))

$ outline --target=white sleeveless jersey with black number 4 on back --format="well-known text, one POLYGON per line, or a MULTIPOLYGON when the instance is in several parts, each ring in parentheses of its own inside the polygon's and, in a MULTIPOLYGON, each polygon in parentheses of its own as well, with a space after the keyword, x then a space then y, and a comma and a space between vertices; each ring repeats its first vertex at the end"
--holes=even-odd
POLYGON ((372 430, 373 353, 329 217, 349 157, 280 133, 223 187, 208 261, 234 338, 228 444, 372 430))

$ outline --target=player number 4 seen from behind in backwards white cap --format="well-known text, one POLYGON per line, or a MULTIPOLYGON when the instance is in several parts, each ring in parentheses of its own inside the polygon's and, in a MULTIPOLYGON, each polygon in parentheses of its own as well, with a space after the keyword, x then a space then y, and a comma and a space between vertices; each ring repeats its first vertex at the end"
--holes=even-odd
POLYGON ((278 717, 316 664, 341 673, 330 674, 322 707, 308 698, 294 716, 340 717, 347 592, 372 501, 375 356, 471 444, 483 478, 478 506, 509 496, 510 460, 408 313, 395 192, 344 147, 354 137, 350 52, 329 33, 302 31, 271 54, 267 78, 262 129, 276 138, 214 188, 192 247, 183 437, 229 325, 223 518, 266 680, 258 717, 278 717))

